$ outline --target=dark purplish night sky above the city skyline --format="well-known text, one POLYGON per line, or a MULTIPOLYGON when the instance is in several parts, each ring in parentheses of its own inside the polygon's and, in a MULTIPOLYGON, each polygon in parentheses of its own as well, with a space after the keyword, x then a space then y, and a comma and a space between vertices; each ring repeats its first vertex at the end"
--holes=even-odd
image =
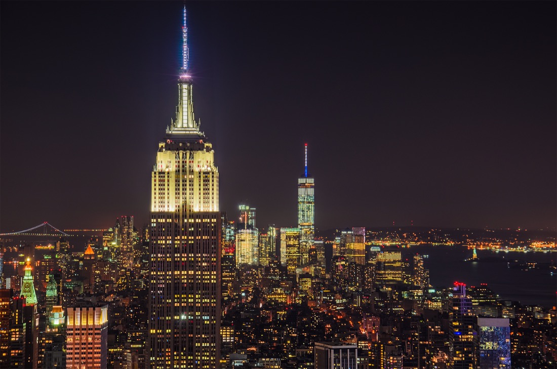
MULTIPOLYGON (((188 2, 221 210, 295 226, 554 228, 556 2, 188 2)), ((182 2, 0 3, 0 230, 148 221, 182 2)))

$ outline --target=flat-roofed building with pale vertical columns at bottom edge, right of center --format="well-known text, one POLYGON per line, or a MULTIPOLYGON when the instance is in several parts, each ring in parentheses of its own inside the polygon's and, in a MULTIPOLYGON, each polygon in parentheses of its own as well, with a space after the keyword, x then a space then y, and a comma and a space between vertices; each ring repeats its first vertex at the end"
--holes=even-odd
POLYGON ((358 369, 358 347, 315 342, 315 369, 358 369))

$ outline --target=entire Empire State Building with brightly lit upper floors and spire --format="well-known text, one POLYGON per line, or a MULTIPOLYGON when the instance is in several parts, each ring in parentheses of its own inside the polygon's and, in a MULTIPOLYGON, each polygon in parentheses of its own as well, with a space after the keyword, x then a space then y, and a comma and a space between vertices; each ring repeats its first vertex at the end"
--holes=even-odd
POLYGON ((213 146, 193 114, 188 29, 176 117, 152 173, 149 358, 152 368, 214 368, 220 359, 221 215, 213 146))

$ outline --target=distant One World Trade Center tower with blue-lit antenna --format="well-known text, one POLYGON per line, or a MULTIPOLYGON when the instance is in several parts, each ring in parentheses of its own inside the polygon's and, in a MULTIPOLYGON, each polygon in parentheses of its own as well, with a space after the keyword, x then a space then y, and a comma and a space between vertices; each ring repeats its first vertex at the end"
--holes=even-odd
POLYGON ((307 174, 307 144, 305 144, 304 175, 298 178, 298 228, 300 229, 300 264, 309 263, 309 250, 315 240, 314 179, 307 174))

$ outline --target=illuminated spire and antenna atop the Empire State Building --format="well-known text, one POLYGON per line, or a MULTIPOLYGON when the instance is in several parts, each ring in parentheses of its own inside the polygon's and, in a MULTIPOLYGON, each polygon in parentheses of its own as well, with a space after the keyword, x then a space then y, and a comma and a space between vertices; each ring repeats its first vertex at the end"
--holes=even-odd
POLYGON ((182 67, 178 80, 178 106, 176 107, 176 119, 167 127, 168 137, 173 140, 180 139, 204 139, 203 132, 199 131, 201 122, 196 122, 193 114, 193 85, 192 77, 189 75, 189 48, 188 48, 188 24, 186 23, 186 11, 184 6, 184 24, 182 26, 182 67))

